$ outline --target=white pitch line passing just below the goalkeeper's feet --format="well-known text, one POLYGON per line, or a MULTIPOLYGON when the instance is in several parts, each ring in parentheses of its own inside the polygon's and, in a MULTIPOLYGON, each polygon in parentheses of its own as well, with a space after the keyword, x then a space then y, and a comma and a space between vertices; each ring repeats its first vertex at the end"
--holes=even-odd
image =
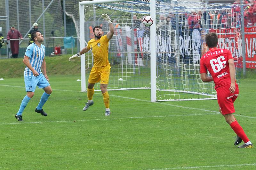
POLYGON ((7 124, 39 124, 39 123, 61 123, 61 122, 86 122, 97 120, 120 120, 120 119, 142 119, 142 118, 156 118, 156 117, 177 117, 177 116, 201 116, 201 115, 217 115, 218 113, 205 113, 205 114, 188 114, 188 115, 166 115, 166 116, 145 116, 145 117, 121 117, 121 118, 108 118, 108 119, 87 119, 87 120, 66 120, 66 121, 45 121, 45 122, 16 122, 16 123, 2 123, 7 124))

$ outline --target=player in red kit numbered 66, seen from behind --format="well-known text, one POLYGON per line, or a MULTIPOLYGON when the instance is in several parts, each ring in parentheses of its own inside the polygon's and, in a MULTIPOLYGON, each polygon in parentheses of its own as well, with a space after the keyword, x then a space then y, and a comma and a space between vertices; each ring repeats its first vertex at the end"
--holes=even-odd
POLYGON ((238 146, 239 148, 252 148, 252 142, 247 138, 243 128, 233 115, 235 112, 234 102, 239 94, 235 78, 234 58, 229 50, 217 48, 218 36, 215 32, 210 32, 205 36, 205 45, 209 51, 200 59, 201 79, 204 82, 214 81, 220 106, 219 111, 237 134, 235 145, 240 144, 243 140, 244 145, 238 146), (206 76, 207 70, 212 77, 206 76))

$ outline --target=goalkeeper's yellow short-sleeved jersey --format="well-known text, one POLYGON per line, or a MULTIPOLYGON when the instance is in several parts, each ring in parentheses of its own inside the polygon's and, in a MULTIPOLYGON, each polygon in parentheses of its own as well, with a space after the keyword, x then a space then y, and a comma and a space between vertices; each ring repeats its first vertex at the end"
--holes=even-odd
POLYGON ((91 39, 88 41, 87 48, 92 50, 94 67, 110 65, 108 61, 108 41, 107 35, 103 35, 98 40, 91 39))

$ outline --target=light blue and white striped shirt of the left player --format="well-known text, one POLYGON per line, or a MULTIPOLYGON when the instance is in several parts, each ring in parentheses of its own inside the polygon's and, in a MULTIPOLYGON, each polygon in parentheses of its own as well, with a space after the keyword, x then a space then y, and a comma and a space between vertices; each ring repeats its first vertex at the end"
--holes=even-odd
MULTIPOLYGON (((30 44, 27 47, 25 55, 28 56, 31 66, 41 74, 41 66, 45 56, 45 46, 41 44, 41 47, 37 46, 35 43, 30 44)), ((32 71, 26 66, 24 71, 24 76, 33 76, 32 71)))

